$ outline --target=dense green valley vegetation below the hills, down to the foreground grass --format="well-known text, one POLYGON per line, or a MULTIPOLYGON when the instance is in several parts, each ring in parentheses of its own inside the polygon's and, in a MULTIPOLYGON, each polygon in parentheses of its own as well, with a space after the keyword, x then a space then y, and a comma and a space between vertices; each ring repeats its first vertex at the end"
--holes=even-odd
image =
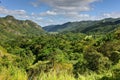
POLYGON ((118 27, 105 35, 39 31, 0 32, 0 80, 120 80, 118 27))

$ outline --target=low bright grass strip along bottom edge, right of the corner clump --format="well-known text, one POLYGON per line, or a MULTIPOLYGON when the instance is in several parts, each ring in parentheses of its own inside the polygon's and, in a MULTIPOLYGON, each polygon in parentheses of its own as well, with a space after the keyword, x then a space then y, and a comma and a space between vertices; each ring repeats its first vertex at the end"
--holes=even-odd
POLYGON ((101 78, 104 76, 112 76, 111 72, 104 74, 96 74, 91 73, 89 75, 79 75, 78 78, 75 78, 73 74, 69 74, 67 72, 57 73, 57 72, 42 72, 40 75, 31 78, 31 80, 102 80, 101 78))

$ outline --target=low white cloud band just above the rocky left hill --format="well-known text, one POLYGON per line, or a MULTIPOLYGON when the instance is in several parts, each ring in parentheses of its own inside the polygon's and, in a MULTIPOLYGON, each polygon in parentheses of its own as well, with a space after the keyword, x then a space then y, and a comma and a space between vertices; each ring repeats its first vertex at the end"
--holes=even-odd
MULTIPOLYGON (((38 24, 40 23, 39 21, 42 22, 43 18, 39 14, 35 13, 27 13, 25 10, 10 10, 7 9, 3 6, 0 6, 0 14, 2 15, 12 15, 17 19, 29 19, 37 22, 38 24)), ((42 24, 42 23, 41 23, 42 24)))

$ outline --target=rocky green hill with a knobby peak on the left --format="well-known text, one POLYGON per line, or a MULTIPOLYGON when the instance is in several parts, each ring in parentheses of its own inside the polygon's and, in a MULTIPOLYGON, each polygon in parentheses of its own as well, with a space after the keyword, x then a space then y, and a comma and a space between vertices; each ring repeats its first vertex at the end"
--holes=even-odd
POLYGON ((19 36, 37 36, 45 33, 41 26, 30 20, 17 20, 13 16, 0 18, 0 39, 19 36))

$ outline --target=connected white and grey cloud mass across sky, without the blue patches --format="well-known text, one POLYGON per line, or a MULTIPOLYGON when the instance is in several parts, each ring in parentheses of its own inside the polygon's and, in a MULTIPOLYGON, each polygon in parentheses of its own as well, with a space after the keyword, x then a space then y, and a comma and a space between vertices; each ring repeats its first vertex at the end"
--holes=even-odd
POLYGON ((68 21, 99 20, 108 17, 120 17, 120 12, 103 13, 94 16, 81 13, 91 10, 91 3, 96 1, 99 0, 37 0, 37 2, 31 3, 34 7, 45 3, 50 6, 50 9, 36 14, 28 13, 25 10, 10 10, 0 6, 0 14, 13 15, 18 19, 30 19, 42 26, 62 24, 68 21))

